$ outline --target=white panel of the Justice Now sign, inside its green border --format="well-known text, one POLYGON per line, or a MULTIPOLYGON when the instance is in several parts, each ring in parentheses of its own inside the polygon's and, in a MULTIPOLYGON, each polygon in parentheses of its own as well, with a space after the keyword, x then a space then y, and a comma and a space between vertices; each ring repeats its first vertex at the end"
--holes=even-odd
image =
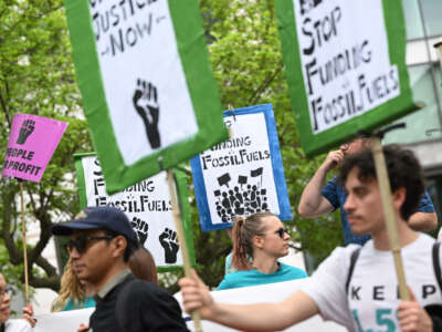
POLYGON ((198 132, 168 2, 90 1, 110 121, 126 165, 198 132))

